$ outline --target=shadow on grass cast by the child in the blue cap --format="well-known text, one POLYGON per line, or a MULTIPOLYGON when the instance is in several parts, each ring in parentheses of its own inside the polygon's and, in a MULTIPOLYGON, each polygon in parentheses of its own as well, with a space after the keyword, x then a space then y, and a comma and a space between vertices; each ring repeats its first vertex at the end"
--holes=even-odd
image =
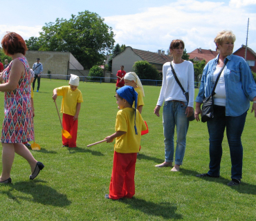
POLYGON ((183 219, 181 214, 175 213, 177 210, 177 206, 173 206, 170 202, 161 202, 159 204, 154 202, 148 202, 146 200, 141 200, 138 198, 132 199, 123 199, 120 200, 125 204, 129 204, 132 209, 140 210, 147 215, 159 216, 164 219, 173 219, 179 220, 183 219))

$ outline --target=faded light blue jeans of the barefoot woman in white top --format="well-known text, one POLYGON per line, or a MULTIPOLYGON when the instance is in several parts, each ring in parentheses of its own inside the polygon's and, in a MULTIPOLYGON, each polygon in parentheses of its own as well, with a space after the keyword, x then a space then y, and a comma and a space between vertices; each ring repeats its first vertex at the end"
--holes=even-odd
POLYGON ((167 101, 163 106, 163 135, 165 136, 165 162, 174 161, 174 129, 176 125, 175 164, 182 165, 185 154, 189 121, 185 114, 188 102, 167 101))

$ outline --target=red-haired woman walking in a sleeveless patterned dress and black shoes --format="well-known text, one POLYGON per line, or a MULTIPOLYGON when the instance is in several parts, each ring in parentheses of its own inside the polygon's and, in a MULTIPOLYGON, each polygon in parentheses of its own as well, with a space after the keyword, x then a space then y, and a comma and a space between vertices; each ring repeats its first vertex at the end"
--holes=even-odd
POLYGON ((31 168, 30 180, 33 180, 44 168, 42 162, 37 162, 28 148, 22 142, 34 139, 33 111, 30 104, 30 68, 25 57, 26 43, 15 32, 8 32, 1 45, 6 55, 12 57, 10 65, 1 73, 0 91, 4 96, 4 120, 1 135, 3 146, 3 169, 1 183, 10 183, 10 171, 15 153, 24 157, 31 168))

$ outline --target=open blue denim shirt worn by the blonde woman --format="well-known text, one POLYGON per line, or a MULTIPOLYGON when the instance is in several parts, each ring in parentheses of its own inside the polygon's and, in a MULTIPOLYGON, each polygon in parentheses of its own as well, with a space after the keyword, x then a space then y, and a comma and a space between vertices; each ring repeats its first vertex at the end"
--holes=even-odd
MULTIPOLYGON (((212 93, 213 73, 216 70, 218 59, 219 55, 210 60, 203 69, 196 102, 203 103, 203 98, 209 97, 212 93)), ((256 97, 256 84, 244 58, 228 55, 224 62, 226 59, 228 59, 228 63, 223 70, 226 90, 226 116, 237 117, 250 108, 250 101, 256 97)))

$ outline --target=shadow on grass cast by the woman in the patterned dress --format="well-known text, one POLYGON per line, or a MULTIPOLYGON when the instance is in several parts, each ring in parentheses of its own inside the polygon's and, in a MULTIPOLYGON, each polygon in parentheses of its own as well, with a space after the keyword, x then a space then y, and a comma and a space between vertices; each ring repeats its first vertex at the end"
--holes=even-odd
POLYGON ((45 186, 39 184, 39 182, 45 182, 42 180, 34 180, 28 182, 16 182, 15 184, 10 184, 11 189, 9 191, 2 191, 5 193, 8 198, 15 200, 17 203, 21 204, 20 200, 26 200, 31 202, 37 202, 44 205, 51 206, 68 206, 71 204, 71 201, 68 200, 66 195, 58 193, 55 189, 50 186, 45 186), (12 190, 26 193, 28 197, 24 196, 15 196, 12 194, 12 190), (32 198, 31 198, 32 196, 32 198))

